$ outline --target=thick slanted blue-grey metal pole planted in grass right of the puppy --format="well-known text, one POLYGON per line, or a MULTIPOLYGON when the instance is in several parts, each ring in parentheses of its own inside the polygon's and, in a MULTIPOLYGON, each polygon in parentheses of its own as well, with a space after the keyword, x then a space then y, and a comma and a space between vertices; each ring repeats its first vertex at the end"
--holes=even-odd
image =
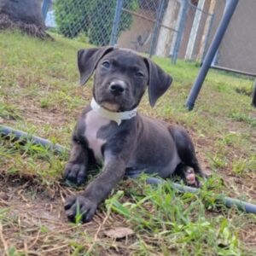
POLYGON ((222 16, 217 32, 212 39, 212 44, 207 50, 207 55, 201 66, 197 79, 195 80, 195 84, 191 88, 189 96, 187 98, 186 106, 189 110, 192 110, 195 106, 195 100, 201 90, 201 86, 207 76, 208 70, 211 67, 213 57, 218 50, 218 46, 221 43, 222 38, 224 37, 224 33, 226 32, 227 27, 229 26, 231 17, 235 12, 237 3, 238 0, 226 0, 224 15, 222 16))

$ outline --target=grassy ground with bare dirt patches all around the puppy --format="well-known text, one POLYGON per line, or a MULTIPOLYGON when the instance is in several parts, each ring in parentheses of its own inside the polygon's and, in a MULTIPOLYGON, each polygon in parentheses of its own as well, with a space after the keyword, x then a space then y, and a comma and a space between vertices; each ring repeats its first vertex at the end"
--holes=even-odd
MULTIPOLYGON (((77 50, 89 45, 52 36, 55 41, 0 33, 0 125, 69 148, 91 97, 92 80, 80 87, 76 64, 77 50)), ((78 216, 71 224, 63 201, 78 189, 62 181, 67 154, 0 138, 1 255, 256 254, 256 215, 217 200, 230 195, 256 203, 253 80, 211 70, 189 112, 184 102, 199 66, 154 61, 172 75, 172 88, 155 108, 144 96, 139 111, 189 131, 202 168, 212 176, 201 191, 180 194, 171 182, 150 187, 145 177, 125 180, 91 223, 79 224, 78 216)))

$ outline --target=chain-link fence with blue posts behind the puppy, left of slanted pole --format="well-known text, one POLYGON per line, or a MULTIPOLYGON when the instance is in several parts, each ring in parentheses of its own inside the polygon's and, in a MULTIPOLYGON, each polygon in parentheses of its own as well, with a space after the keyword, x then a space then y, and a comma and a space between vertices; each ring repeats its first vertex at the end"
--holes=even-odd
POLYGON ((67 38, 201 61, 214 15, 201 0, 44 0, 45 25, 67 38))

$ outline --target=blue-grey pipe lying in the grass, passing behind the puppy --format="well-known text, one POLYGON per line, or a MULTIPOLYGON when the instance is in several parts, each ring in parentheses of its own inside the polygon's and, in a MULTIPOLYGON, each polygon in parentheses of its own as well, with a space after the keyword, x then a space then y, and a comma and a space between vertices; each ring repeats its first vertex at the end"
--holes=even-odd
MULTIPOLYGON (((51 150, 55 151, 57 154, 62 154, 64 152, 67 152, 67 148, 61 146, 60 144, 54 144, 51 143, 49 140, 37 137, 37 136, 32 136, 28 135, 24 131, 18 131, 14 130, 11 127, 0 125, 0 136, 3 137, 14 137, 15 139, 24 139, 24 141, 31 141, 34 144, 39 144, 42 145, 43 147, 50 148, 51 150)), ((136 178, 139 177, 142 174, 142 172, 138 172, 136 170, 130 170, 126 172, 127 177, 130 178, 136 178)), ((157 177, 148 177, 147 178, 147 183, 152 184, 152 185, 157 185, 160 183, 165 183, 166 181, 157 177)), ((199 189, 195 189, 192 187, 184 186, 178 183, 172 183, 172 187, 174 189, 177 189, 180 192, 184 193, 197 193, 199 189)), ((244 212, 251 212, 251 213, 256 213, 256 205, 253 205, 251 203, 248 203, 246 201, 240 201, 237 199, 233 199, 230 197, 222 196, 221 198, 218 199, 218 201, 224 203, 226 207, 233 207, 236 206, 238 209, 244 212)))

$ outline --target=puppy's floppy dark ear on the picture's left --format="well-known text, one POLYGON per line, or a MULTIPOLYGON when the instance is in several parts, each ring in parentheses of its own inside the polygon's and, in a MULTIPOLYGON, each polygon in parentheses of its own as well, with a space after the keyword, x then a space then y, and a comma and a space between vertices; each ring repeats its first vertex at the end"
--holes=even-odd
POLYGON ((112 51, 113 47, 100 47, 91 49, 79 49, 78 66, 80 73, 80 84, 84 85, 96 69, 98 62, 104 55, 112 51))

